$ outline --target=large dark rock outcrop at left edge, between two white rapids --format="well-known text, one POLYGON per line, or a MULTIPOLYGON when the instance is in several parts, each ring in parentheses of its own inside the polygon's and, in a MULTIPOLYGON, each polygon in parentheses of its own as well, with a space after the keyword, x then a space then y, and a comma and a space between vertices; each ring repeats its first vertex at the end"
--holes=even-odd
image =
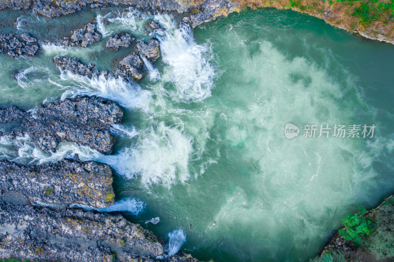
POLYGON ((35 114, 16 107, 0 109, 0 128, 10 138, 28 135, 44 151, 55 151, 60 142, 90 146, 101 153, 112 151, 111 123, 120 123, 123 109, 104 98, 78 96, 42 105, 35 114))

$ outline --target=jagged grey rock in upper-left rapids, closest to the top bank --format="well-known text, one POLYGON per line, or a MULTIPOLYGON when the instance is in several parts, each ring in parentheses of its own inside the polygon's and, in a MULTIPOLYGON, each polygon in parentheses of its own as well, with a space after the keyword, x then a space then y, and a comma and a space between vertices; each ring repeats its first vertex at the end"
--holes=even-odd
POLYGON ((65 37, 60 41, 65 46, 82 46, 87 47, 101 40, 101 34, 97 30, 96 24, 89 23, 81 29, 71 32, 71 37, 65 37))

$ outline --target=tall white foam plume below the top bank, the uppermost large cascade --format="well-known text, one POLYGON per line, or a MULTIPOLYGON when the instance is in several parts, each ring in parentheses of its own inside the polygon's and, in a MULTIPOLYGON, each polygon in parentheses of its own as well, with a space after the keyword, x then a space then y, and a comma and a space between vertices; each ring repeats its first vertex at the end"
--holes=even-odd
POLYGON ((172 82, 175 90, 168 90, 178 102, 200 102, 211 96, 214 87, 214 67, 210 64, 212 51, 208 45, 197 44, 191 28, 181 23, 175 27, 172 17, 157 15, 165 31, 158 31, 164 68, 162 79, 172 82))

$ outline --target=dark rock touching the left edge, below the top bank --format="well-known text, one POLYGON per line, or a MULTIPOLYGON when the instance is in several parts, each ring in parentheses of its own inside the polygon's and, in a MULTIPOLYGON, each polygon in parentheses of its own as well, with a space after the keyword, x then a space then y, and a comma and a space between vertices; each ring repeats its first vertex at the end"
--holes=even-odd
POLYGON ((0 34, 0 53, 8 54, 11 58, 22 55, 34 57, 38 49, 37 39, 28 33, 0 34))

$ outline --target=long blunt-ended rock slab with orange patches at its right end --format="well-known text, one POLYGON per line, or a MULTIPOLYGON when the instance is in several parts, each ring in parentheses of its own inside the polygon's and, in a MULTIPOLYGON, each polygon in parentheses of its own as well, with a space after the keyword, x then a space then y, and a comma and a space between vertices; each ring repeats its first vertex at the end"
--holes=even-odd
POLYGON ((20 196, 31 202, 107 207, 114 202, 112 171, 93 161, 63 160, 24 166, 0 161, 0 199, 20 196))

